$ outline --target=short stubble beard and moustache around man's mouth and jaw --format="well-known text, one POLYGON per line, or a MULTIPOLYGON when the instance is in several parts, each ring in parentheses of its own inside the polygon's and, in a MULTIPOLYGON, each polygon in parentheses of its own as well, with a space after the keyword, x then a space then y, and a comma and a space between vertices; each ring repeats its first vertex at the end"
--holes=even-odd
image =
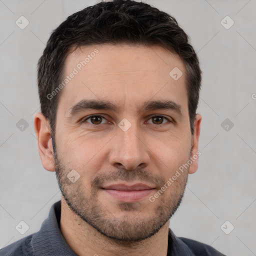
POLYGON ((56 153, 54 163, 61 194, 72 212, 80 219, 79 222, 85 221, 99 233, 123 245, 138 242, 156 234, 180 205, 187 182, 187 173, 183 173, 154 202, 148 200, 147 203, 154 204, 150 215, 144 214, 144 206, 138 208, 137 203, 120 202, 118 206, 122 214, 121 217, 116 217, 116 212, 113 214, 97 198, 98 185, 103 181, 144 180, 161 185, 166 181, 164 182, 160 176, 152 176, 141 168, 133 171, 117 169, 111 173, 101 173, 92 180, 91 187, 86 188, 82 184, 82 176, 75 183, 66 177, 71 169, 63 165, 56 153))

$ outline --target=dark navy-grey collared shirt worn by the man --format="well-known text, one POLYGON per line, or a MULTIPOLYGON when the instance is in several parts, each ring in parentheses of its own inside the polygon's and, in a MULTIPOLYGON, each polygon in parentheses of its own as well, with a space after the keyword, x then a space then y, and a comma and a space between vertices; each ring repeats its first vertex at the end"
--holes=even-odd
MULTIPOLYGON (((0 249, 0 256, 77 256, 60 231, 61 200, 52 204, 38 232, 0 249)), ((169 228, 166 256, 225 256, 204 243, 176 237, 169 228)))

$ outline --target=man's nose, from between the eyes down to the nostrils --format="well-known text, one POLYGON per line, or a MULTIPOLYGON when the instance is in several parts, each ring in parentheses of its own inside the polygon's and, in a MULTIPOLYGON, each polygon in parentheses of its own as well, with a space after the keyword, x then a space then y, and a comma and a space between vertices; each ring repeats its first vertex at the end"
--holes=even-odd
POLYGON ((124 167, 127 170, 136 167, 146 167, 149 164, 149 148, 136 125, 132 124, 128 130, 118 127, 116 135, 111 141, 109 163, 114 167, 124 167))

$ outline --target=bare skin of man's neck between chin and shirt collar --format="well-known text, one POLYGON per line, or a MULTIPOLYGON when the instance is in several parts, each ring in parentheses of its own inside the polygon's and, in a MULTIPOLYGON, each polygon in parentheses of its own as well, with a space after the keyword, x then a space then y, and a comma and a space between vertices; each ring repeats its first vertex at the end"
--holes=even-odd
POLYGON ((60 230, 69 247, 79 256, 166 256, 168 247, 167 221, 153 236, 134 243, 116 243, 81 220, 61 197, 60 230))

